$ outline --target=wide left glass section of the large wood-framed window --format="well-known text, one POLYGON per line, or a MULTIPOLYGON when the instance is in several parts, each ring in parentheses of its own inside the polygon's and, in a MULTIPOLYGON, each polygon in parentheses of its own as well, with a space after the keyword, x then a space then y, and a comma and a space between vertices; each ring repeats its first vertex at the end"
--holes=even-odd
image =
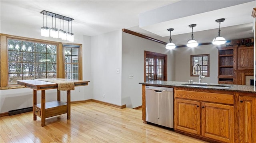
POLYGON ((57 45, 8 39, 8 84, 16 80, 56 78, 57 45))

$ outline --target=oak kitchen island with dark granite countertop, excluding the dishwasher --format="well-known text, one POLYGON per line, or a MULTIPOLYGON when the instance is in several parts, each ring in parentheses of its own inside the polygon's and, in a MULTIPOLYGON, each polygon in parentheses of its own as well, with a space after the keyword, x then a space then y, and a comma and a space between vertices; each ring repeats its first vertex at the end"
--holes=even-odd
POLYGON ((142 120, 146 121, 146 86, 174 88, 174 131, 210 142, 256 143, 254 86, 188 84, 161 81, 142 84, 142 120))

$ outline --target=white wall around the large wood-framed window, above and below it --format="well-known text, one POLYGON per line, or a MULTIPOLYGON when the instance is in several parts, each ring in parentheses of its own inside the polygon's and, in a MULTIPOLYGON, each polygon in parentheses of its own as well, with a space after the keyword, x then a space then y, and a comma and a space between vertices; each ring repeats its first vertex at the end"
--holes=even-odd
MULTIPOLYGON (((22 37, 30 37, 36 39, 44 39, 49 41, 58 41, 69 43, 61 39, 54 39, 51 37, 42 37, 40 34, 40 27, 27 27, 26 25, 15 25, 6 22, 0 22, 0 33, 16 35, 22 37)), ((91 80, 91 39, 89 36, 74 35, 73 43, 83 44, 83 80, 91 80)), ((61 100, 66 101, 66 92, 61 91, 61 100)), ((71 91, 71 101, 80 101, 92 98, 91 85, 75 87, 71 91)), ((40 103, 40 91, 38 91, 38 103, 40 103)), ((56 90, 46 91, 46 101, 56 100, 56 90)), ((0 113, 8 112, 9 110, 16 110, 20 108, 27 108, 32 106, 32 89, 19 88, 10 90, 0 90, 0 113)))

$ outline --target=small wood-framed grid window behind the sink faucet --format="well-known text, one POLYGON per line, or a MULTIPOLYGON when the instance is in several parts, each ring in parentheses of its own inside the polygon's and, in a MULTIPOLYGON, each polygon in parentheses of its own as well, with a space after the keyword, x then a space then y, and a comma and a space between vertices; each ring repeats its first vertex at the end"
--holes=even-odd
POLYGON ((204 76, 210 76, 210 54, 204 54, 204 55, 190 55, 191 58, 191 67, 190 67, 190 76, 199 76, 199 74, 204 76), (200 68, 197 66, 195 67, 196 74, 193 74, 193 68, 194 65, 199 64, 201 66, 201 72, 200 68))

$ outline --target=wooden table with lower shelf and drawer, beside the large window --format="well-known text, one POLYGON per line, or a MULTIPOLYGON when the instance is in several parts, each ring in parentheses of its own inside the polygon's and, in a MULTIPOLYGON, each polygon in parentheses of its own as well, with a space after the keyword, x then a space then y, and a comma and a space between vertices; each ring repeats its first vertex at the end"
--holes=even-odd
MULTIPOLYGON (((86 86, 89 81, 70 80, 63 78, 56 78, 74 82, 75 86, 86 86)), ((33 89, 33 120, 36 116, 41 118, 41 126, 45 126, 45 119, 61 114, 67 114, 67 119, 70 119, 70 90, 67 90, 67 102, 60 101, 60 90, 58 84, 53 82, 46 82, 41 80, 17 80, 18 84, 33 89), (45 90, 57 89, 57 100, 52 102, 45 102, 45 90), (36 91, 41 90, 41 104, 36 103, 36 91)))

